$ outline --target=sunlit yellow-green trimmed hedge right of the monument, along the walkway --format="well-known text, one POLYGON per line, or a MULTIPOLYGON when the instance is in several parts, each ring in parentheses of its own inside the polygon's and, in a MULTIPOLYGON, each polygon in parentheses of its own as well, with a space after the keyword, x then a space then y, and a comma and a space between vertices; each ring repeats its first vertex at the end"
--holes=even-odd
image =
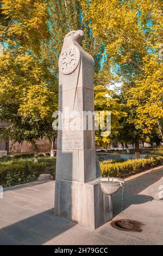
POLYGON ((149 159, 133 159, 122 163, 101 162, 101 170, 104 177, 115 176, 127 178, 130 175, 144 172, 163 164, 163 156, 150 157, 149 159))

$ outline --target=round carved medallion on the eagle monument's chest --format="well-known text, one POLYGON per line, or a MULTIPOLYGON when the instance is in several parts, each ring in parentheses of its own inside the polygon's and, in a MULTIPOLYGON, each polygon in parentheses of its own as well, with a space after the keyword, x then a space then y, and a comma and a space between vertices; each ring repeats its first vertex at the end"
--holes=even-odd
POLYGON ((61 52, 59 57, 59 69, 63 74, 71 74, 76 70, 80 60, 80 51, 77 46, 73 45, 61 52))

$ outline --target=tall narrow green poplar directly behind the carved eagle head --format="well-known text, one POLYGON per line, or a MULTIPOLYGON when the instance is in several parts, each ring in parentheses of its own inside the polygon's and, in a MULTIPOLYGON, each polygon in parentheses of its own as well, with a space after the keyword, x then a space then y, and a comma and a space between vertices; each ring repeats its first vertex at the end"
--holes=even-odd
POLYGON ((74 30, 82 29, 84 38, 82 46, 95 59, 95 73, 101 69, 101 59, 105 47, 101 40, 92 35, 88 22, 84 19, 82 8, 78 0, 49 0, 49 40, 42 42, 42 56, 46 65, 52 70, 54 80, 58 83, 58 58, 61 53, 65 35, 74 30))

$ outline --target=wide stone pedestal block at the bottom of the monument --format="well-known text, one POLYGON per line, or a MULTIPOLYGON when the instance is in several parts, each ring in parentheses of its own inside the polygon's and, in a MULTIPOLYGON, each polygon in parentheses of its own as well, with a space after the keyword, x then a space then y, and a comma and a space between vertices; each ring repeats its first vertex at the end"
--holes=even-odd
POLYGON ((112 219, 112 199, 103 193, 98 180, 56 180, 54 214, 96 229, 112 219))

